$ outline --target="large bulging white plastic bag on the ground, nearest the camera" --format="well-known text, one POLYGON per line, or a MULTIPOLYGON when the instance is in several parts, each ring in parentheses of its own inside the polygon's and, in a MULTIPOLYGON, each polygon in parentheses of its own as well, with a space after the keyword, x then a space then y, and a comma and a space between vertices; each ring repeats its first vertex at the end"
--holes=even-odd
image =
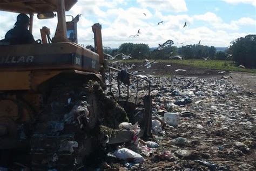
POLYGON ((114 155, 121 160, 129 160, 129 161, 133 161, 135 163, 140 163, 140 162, 144 162, 145 159, 143 158, 143 156, 141 156, 138 153, 135 153, 133 151, 131 151, 128 148, 120 148, 117 151, 114 152, 114 155))

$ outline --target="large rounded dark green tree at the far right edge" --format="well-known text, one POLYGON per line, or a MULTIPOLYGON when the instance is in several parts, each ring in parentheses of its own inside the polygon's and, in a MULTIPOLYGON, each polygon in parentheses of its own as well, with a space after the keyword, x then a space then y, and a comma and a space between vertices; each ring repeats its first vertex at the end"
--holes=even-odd
POLYGON ((247 35, 231 42, 228 52, 237 65, 256 68, 256 35, 247 35))

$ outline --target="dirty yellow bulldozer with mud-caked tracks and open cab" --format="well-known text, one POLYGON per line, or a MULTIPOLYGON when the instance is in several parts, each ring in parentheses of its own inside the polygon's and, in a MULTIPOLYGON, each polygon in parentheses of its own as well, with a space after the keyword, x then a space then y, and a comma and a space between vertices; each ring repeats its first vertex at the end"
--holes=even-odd
POLYGON ((101 25, 92 26, 91 51, 77 44, 79 16, 66 22, 65 11, 76 3, 0 0, 0 10, 30 16, 31 33, 34 15, 50 19, 56 12, 58 18, 52 38, 43 27, 35 44, 0 42, 0 167, 79 170, 94 149, 132 139, 129 131, 107 136, 128 119, 103 92, 101 25))

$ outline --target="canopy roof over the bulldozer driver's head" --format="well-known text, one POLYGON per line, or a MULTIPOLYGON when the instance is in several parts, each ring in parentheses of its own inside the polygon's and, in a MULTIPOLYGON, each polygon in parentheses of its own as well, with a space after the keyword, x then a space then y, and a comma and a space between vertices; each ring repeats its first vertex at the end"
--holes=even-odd
MULTIPOLYGON (((18 13, 46 13, 57 11, 58 0, 0 0, 0 10, 18 13)), ((77 0, 65 0, 69 11, 77 0)))

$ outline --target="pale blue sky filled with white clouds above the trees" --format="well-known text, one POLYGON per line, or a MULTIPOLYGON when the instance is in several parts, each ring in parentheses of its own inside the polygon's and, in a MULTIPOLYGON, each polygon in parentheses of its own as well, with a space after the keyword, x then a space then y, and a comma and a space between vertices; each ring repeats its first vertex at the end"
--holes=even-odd
MULTIPOLYGON (((77 14, 82 14, 78 43, 84 45, 93 45, 94 23, 102 24, 103 45, 110 47, 126 42, 157 47, 168 39, 176 46, 201 40, 201 45, 227 47, 236 38, 256 34, 256 0, 79 0, 66 12, 77 14), (157 25, 160 21, 164 23, 157 25), (183 28, 185 22, 187 26, 183 28), (129 37, 139 29, 138 37, 129 37)), ((16 16, 17 13, 0 11, 0 39, 13 27, 16 16)), ((56 25, 57 18, 35 17, 35 39, 41 38, 42 26, 50 28, 53 36, 56 25)))

